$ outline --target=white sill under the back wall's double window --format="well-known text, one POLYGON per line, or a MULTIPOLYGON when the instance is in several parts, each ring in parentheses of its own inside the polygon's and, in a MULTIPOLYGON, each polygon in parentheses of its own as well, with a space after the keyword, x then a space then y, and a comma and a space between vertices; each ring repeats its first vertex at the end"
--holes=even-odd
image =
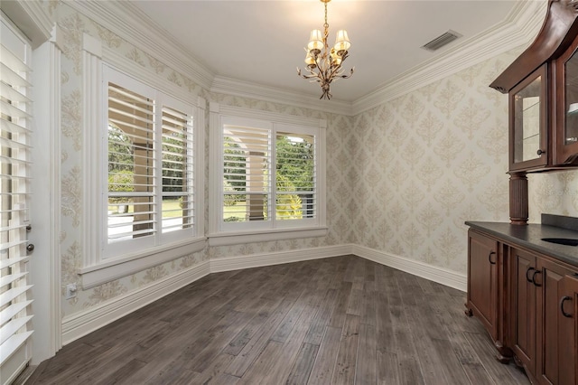
POLYGON ((241 243, 267 242, 271 240, 323 237, 328 228, 312 227, 299 229, 256 230, 247 232, 219 232, 209 234, 209 246, 228 246, 241 243))

